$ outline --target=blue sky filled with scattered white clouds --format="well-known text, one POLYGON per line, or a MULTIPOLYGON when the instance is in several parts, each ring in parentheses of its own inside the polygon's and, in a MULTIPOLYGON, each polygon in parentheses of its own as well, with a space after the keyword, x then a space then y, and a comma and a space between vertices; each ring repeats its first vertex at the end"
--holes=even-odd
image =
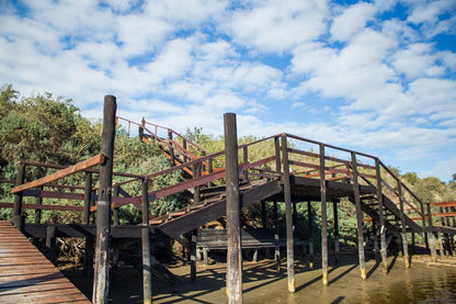
POLYGON ((0 83, 180 132, 281 132, 456 172, 456 0, 0 2, 0 83))

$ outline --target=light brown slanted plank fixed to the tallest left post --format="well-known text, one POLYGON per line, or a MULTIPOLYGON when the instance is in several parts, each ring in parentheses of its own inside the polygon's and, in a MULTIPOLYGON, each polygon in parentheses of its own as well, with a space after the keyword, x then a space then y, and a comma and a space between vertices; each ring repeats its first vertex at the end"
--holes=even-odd
POLYGON ((55 173, 52 173, 47 177, 31 181, 31 182, 26 182, 26 183, 21 184, 21 185, 16 185, 13 189, 11 189, 11 193, 18 193, 18 192, 24 191, 26 189, 44 185, 44 184, 53 182, 55 180, 71 176, 71 174, 80 172, 80 171, 83 171, 88 168, 91 168, 93 166, 102 164, 104 161, 104 158, 105 158, 104 154, 99 154, 94 157, 82 160, 82 161, 80 161, 80 162, 78 162, 73 166, 70 166, 66 169, 62 169, 62 170, 57 171, 55 173))

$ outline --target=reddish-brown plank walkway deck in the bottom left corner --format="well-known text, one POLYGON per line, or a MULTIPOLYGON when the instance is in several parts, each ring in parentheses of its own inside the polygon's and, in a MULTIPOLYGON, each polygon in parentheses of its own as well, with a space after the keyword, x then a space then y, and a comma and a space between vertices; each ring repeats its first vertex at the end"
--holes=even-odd
POLYGON ((29 239, 0 221, 0 303, 91 303, 29 239))

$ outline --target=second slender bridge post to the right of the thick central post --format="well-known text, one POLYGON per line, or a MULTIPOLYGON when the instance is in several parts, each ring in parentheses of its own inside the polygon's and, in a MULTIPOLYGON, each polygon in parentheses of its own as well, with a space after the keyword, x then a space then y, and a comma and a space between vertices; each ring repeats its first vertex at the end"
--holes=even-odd
POLYGON ((323 272, 323 285, 328 285, 328 215, 327 181, 324 171, 324 145, 320 144, 321 270, 323 272))

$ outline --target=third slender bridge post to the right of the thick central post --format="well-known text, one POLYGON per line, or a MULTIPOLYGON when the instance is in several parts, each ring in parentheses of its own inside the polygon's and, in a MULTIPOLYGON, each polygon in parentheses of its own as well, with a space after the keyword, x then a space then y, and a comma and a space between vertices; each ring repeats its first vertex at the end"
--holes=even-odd
POLYGON ((352 153, 352 169, 353 169, 353 192, 356 206, 356 223, 357 223, 357 249, 360 258, 361 279, 366 280, 366 263, 364 258, 364 237, 363 237, 363 211, 361 210, 360 200, 360 184, 357 181, 357 164, 356 155, 352 153))

